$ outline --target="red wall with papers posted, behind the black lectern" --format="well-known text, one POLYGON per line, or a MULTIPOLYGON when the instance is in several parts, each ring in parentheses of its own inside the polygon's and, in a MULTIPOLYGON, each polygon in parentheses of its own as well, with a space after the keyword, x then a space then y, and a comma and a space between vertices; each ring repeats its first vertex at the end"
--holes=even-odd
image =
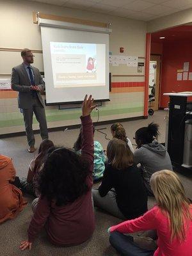
MULTIPOLYGON (((189 72, 192 72, 192 42, 167 42, 163 44, 161 63, 160 108, 166 108, 169 97, 166 92, 192 91, 192 81, 177 81, 177 70, 183 69, 183 63, 189 61, 189 72)), ((189 100, 192 100, 189 98, 189 100)))

